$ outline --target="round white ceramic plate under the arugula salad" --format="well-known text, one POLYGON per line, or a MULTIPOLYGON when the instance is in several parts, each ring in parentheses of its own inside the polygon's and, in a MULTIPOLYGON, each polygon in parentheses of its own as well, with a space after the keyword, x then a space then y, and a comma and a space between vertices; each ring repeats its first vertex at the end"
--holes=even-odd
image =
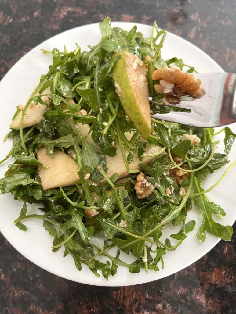
MULTIPOLYGON (((113 27, 121 27, 125 30, 130 30, 134 25, 133 23, 112 23, 113 27)), ((150 26, 142 24, 137 25, 138 31, 141 31, 145 37, 151 35, 152 28, 150 26)), ((52 50, 53 48, 58 48, 62 50, 65 44, 67 50, 70 51, 74 50, 76 47, 75 43, 78 43, 82 50, 86 50, 87 45, 96 45, 100 37, 98 24, 90 24, 68 30, 48 39, 31 50, 7 73, 0 83, 0 160, 3 159, 11 149, 11 141, 8 140, 6 143, 3 143, 2 140, 9 130, 11 118, 15 112, 16 106, 26 103, 28 97, 37 86, 41 74, 47 73, 48 66, 51 64, 51 57, 43 54, 40 49, 52 50)), ((186 64, 194 66, 199 72, 222 72, 222 69, 216 62, 203 51, 172 34, 168 34, 166 37, 164 47, 162 48, 162 57, 164 59, 171 57, 182 58, 186 64)), ((236 132, 236 125, 231 125, 231 129, 233 132, 236 132)), ((231 161, 235 160, 236 157, 235 146, 229 157, 231 161)), ((0 166, 1 177, 3 177, 4 172, 7 170, 8 163, 9 162, 5 162, 0 166)), ((208 176, 204 182, 205 188, 214 184, 226 168, 227 166, 216 171, 214 175, 208 176)), ((227 215, 221 219, 221 223, 225 225, 232 225, 236 219, 236 211, 234 208, 234 204, 236 203, 234 188, 235 171, 236 169, 233 169, 222 183, 219 184, 213 192, 208 194, 212 201, 225 209, 227 215)), ((187 239, 183 241, 175 252, 167 252, 164 256, 164 269, 160 269, 159 272, 149 271, 149 273, 145 273, 144 269, 142 269, 140 273, 132 274, 129 273, 127 268, 119 266, 117 274, 110 277, 109 281, 107 281, 102 275, 100 278, 96 277, 85 265, 82 271, 79 272, 70 255, 63 257, 64 250, 62 248, 58 252, 53 253, 51 251, 53 237, 42 227, 42 221, 27 221, 25 225, 27 225, 28 230, 25 232, 14 226, 13 221, 19 216, 20 209, 23 205, 22 202, 15 201, 10 194, 4 194, 0 197, 0 203, 0 230, 3 236, 5 236, 21 254, 50 273, 85 284, 124 286, 160 279, 194 263, 209 252, 219 241, 218 238, 207 234, 206 241, 199 243, 196 238, 196 232, 201 223, 201 215, 197 210, 193 209, 188 212, 188 219, 196 220, 194 231, 188 234, 187 239)), ((30 213, 39 212, 36 206, 29 205, 29 208, 30 213)), ((166 228, 166 234, 168 234, 168 228, 172 227, 168 226, 166 228)), ((98 237, 95 242, 98 245, 102 245, 103 238, 98 237)), ((124 254, 122 258, 126 261, 132 261, 130 255, 124 254)), ((102 260, 104 261, 106 258, 102 257, 102 260)))

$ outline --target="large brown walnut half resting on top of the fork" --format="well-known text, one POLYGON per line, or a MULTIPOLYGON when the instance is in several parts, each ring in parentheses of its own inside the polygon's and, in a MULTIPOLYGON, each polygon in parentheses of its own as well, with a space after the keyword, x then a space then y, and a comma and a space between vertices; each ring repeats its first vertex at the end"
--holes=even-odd
POLYGON ((160 81, 154 85, 157 93, 164 95, 163 103, 179 103, 183 94, 193 97, 202 93, 201 80, 193 74, 183 73, 180 68, 171 67, 157 69, 152 73, 152 79, 160 81))

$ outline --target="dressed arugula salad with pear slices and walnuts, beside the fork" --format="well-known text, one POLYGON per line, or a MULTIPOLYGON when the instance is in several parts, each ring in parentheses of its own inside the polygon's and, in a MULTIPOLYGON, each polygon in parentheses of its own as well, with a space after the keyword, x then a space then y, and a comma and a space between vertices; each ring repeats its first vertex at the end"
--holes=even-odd
POLYGON ((11 156, 15 161, 0 190, 24 202, 14 221, 20 230, 26 231, 25 220, 42 219, 54 238, 53 252, 63 247, 78 270, 86 264, 108 279, 118 265, 131 273, 158 271, 166 251, 175 250, 190 231, 200 242, 207 232, 231 240, 232 227, 213 219, 224 210, 205 193, 234 163, 208 190, 202 180, 229 162, 236 135, 224 128, 225 149, 219 153, 213 128, 151 118, 150 112, 170 110, 154 88, 159 81, 153 72, 195 69, 181 59, 161 58, 166 31, 156 23, 149 38, 136 26, 129 32, 112 29, 109 18, 99 26, 102 39, 89 51, 79 46, 43 51, 51 54, 52 65, 27 104, 17 107, 6 136, 13 147, 1 163, 11 156), (27 214, 27 203, 42 214, 27 214), (199 230, 186 219, 193 204, 202 218, 199 230), (163 239, 170 224, 176 233, 163 239), (93 239, 101 233, 104 245, 98 247, 93 239), (120 251, 132 254, 133 262, 122 261, 120 251))

